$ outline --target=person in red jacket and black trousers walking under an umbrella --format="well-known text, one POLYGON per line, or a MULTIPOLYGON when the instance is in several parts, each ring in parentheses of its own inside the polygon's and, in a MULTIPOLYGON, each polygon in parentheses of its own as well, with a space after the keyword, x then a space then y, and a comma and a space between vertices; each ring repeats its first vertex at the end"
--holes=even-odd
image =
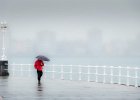
POLYGON ((42 60, 37 59, 37 60, 35 61, 34 67, 35 67, 35 69, 37 70, 38 84, 40 84, 41 77, 42 77, 42 75, 43 75, 43 71, 42 71, 43 66, 44 66, 44 63, 43 63, 42 60))

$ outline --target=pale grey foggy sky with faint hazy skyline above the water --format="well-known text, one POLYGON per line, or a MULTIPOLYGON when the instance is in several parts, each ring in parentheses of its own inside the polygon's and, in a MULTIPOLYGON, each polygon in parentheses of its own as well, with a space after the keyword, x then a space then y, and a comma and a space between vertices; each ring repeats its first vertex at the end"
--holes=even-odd
POLYGON ((139 5, 140 0, 0 0, 0 20, 8 22, 12 55, 136 57, 139 5))

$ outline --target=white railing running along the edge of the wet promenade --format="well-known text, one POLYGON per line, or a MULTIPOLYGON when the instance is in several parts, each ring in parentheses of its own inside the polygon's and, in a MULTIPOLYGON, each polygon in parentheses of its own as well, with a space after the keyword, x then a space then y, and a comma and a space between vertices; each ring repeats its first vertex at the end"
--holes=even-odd
MULTIPOLYGON (((45 65, 44 78, 83 80, 140 86, 140 68, 122 66, 92 66, 92 65, 45 65)), ((36 75, 33 64, 10 64, 10 76, 36 75)))

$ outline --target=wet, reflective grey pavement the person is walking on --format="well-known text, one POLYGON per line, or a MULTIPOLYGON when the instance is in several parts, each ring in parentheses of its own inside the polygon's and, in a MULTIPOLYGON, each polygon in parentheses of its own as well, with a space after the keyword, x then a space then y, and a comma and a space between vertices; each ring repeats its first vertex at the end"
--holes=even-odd
POLYGON ((3 100, 140 100, 140 88, 117 84, 43 79, 38 85, 33 77, 0 77, 3 100))

